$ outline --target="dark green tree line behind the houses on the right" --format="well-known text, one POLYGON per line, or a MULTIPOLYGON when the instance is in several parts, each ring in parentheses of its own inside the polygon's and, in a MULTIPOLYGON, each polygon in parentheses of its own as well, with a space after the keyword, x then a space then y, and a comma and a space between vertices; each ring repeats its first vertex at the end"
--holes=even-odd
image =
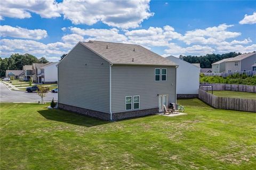
POLYGON ((225 54, 206 54, 201 56, 194 55, 180 55, 181 60, 187 61, 189 63, 200 63, 201 68, 212 68, 212 63, 220 61, 222 59, 227 59, 240 55, 241 53, 230 52, 225 54))

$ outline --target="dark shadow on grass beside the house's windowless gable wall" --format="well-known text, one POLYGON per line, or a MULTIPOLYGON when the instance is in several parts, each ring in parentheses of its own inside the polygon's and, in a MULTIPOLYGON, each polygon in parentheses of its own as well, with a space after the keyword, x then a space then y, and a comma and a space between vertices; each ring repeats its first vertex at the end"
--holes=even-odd
POLYGON ((73 124, 78 126, 92 127, 92 126, 98 126, 98 125, 110 123, 106 120, 91 118, 85 115, 79 115, 75 112, 59 110, 59 109, 39 110, 37 112, 48 120, 54 120, 57 122, 63 122, 63 123, 68 123, 68 124, 73 124))

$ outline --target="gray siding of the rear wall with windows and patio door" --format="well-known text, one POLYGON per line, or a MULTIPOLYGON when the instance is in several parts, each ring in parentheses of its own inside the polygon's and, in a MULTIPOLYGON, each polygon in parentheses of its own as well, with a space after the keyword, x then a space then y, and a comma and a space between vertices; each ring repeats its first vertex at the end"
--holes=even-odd
POLYGON ((140 95, 140 110, 158 108, 157 94, 175 102, 175 67, 113 65, 111 75, 113 113, 125 111, 125 96, 140 95), (155 68, 167 68, 167 81, 155 82, 155 68))

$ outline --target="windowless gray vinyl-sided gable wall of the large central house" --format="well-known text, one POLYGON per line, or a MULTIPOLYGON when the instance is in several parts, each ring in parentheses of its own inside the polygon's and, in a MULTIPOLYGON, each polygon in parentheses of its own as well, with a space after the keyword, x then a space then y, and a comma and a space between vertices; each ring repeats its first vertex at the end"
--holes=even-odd
POLYGON ((59 103, 109 113, 109 67, 78 44, 58 66, 59 103))

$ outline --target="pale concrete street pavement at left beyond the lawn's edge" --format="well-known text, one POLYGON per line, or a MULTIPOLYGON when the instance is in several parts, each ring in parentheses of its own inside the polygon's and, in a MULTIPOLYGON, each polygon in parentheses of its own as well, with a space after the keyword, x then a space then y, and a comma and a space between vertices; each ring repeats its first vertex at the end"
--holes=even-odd
MULTIPOLYGON (((37 95, 36 92, 27 93, 22 91, 11 91, 7 88, 2 82, 0 82, 0 101, 1 102, 38 102, 41 101, 41 98, 37 95)), ((44 98, 45 102, 58 100, 58 93, 48 92, 44 98)))

